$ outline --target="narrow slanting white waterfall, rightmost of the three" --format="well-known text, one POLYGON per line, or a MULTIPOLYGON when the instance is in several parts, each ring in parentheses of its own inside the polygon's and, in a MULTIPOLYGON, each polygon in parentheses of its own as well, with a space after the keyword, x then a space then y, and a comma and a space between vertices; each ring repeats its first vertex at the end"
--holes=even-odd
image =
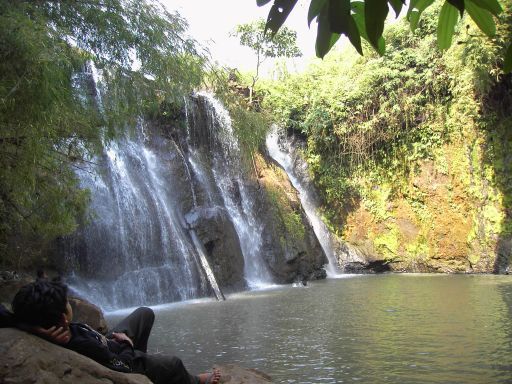
POLYGON ((331 239, 331 233, 325 223, 322 221, 318 214, 318 205, 313 197, 311 186, 301 177, 299 177, 294 169, 292 156, 290 155, 290 143, 280 143, 278 127, 274 126, 271 132, 267 135, 266 146, 270 156, 285 170, 288 174, 294 188, 299 192, 299 198, 306 212, 308 220, 313 227, 320 245, 329 260, 325 266, 328 277, 336 277, 340 274, 338 270, 338 263, 331 239))

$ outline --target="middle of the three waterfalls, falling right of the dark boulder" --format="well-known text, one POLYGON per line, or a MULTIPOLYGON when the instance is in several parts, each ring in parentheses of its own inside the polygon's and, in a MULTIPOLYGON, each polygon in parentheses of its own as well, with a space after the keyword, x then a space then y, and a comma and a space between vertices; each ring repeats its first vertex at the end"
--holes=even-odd
MULTIPOLYGON (((213 189, 208 195, 216 204, 222 204, 233 222, 240 240, 244 256, 244 275, 250 288, 261 288, 272 284, 272 278, 266 264, 262 260, 260 223, 254 213, 253 199, 247 191, 242 171, 241 155, 236 141, 231 118, 228 111, 208 93, 200 93, 197 97, 204 101, 208 132, 202 138, 203 145, 210 151, 210 170, 213 175, 213 189), (217 192, 217 193, 216 193, 217 192), (215 201, 220 192, 221 201, 215 201)), ((194 110, 187 114, 189 161, 194 170, 205 180, 209 170, 204 168, 206 160, 201 157, 198 150, 201 138, 198 138, 197 119, 194 110)), ((212 185, 212 184, 210 184, 212 185)))

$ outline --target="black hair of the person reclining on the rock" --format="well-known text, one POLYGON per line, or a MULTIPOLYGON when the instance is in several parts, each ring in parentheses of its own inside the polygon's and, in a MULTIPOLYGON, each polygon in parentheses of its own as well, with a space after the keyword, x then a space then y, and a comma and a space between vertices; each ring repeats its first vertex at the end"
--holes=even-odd
POLYGON ((61 282, 37 280, 22 287, 12 301, 14 318, 43 328, 58 325, 66 313, 68 287, 61 282))

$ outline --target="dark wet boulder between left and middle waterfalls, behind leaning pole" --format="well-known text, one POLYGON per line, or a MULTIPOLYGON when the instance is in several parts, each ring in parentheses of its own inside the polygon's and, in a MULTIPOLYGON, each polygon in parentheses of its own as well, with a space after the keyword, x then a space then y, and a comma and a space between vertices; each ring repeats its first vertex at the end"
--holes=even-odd
POLYGON ((220 288, 227 292, 245 288, 244 257, 226 211, 220 207, 196 208, 185 215, 185 220, 204 245, 220 288))

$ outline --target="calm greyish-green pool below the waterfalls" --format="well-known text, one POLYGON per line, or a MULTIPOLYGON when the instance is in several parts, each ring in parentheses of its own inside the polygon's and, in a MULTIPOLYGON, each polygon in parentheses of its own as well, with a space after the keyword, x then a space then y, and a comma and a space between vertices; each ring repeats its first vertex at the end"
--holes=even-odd
POLYGON ((162 306, 150 352, 275 383, 512 383, 512 277, 351 276, 162 306))

